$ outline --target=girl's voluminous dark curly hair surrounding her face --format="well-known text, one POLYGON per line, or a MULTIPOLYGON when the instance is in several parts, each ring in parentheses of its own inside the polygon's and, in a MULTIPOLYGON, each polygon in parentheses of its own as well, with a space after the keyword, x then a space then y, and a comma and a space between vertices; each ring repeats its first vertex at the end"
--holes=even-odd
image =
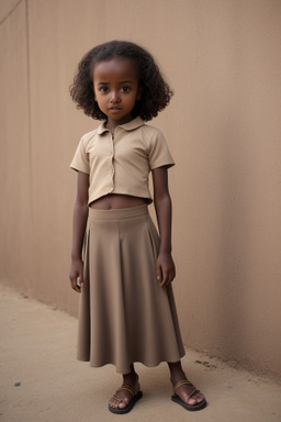
POLYGON ((98 45, 82 57, 74 84, 70 86, 70 96, 77 108, 93 119, 106 120, 106 115, 94 100, 93 67, 99 62, 110 60, 116 56, 132 60, 138 71, 143 91, 140 100, 136 101, 132 111, 133 118, 140 116, 144 121, 156 118, 158 112, 168 106, 173 92, 161 76, 153 56, 137 44, 126 41, 111 41, 98 45))

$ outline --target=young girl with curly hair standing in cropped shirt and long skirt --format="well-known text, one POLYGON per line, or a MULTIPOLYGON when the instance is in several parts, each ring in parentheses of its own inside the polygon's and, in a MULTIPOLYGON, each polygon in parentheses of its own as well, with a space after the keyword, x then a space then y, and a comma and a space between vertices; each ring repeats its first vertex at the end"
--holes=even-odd
POLYGON ((167 362, 172 400, 203 409, 204 396, 180 363, 167 176, 173 160, 161 132, 145 123, 172 92, 149 53, 113 41, 85 55, 70 93, 86 114, 104 120, 82 136, 70 165, 78 171, 69 276, 81 292, 78 359, 113 364, 123 375, 113 413, 127 413, 143 396, 135 362, 167 362), (159 236, 147 209, 150 171, 159 236))

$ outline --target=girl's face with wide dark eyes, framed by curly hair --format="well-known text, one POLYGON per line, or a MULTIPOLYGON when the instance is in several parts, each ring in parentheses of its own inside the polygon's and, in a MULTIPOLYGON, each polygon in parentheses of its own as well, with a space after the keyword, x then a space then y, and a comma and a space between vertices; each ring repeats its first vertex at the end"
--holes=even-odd
POLYGON ((130 122, 135 102, 142 96, 136 68, 123 57, 113 57, 94 66, 93 90, 99 108, 108 116, 108 127, 130 122))

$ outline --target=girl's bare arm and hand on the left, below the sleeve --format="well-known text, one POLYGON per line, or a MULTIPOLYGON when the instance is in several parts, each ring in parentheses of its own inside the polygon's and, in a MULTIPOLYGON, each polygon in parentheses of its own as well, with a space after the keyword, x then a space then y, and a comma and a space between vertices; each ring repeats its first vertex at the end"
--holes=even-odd
POLYGON ((72 220, 72 249, 69 279, 74 290, 80 292, 83 285, 82 246, 88 219, 89 175, 78 171, 77 197, 72 220), (79 285, 78 285, 79 278, 79 285))

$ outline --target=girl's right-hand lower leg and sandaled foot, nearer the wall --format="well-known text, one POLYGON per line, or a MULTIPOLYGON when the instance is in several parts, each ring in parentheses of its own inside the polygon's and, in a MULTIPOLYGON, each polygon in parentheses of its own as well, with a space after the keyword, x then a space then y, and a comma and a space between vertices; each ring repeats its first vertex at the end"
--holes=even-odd
MULTIPOLYGON (((187 376, 181 367, 181 362, 168 363, 170 369, 170 380, 173 388, 181 381, 187 381, 187 376)), ((176 388, 172 397, 173 401, 182 401, 180 404, 187 404, 188 410, 200 410, 206 406, 202 392, 200 392, 191 382, 182 384, 176 388), (178 400, 180 399, 180 400, 178 400)))

